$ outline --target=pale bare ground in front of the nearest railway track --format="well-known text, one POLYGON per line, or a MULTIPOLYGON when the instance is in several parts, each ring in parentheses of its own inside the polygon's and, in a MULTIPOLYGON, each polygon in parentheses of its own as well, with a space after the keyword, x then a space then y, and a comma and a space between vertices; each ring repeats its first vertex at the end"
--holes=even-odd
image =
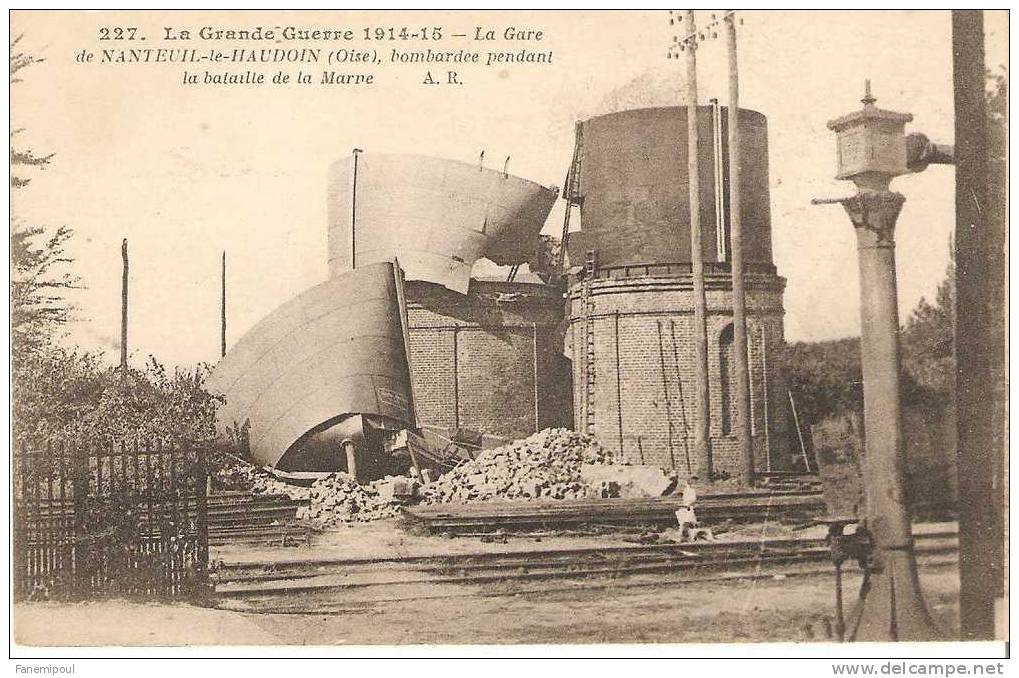
MULTIPOLYGON (((928 606, 958 629, 954 568, 921 572, 928 606)), ((847 599, 859 586, 846 579, 847 599)), ((258 615, 123 602, 14 608, 31 645, 458 644, 818 641, 828 576, 381 603, 331 615, 258 615)))

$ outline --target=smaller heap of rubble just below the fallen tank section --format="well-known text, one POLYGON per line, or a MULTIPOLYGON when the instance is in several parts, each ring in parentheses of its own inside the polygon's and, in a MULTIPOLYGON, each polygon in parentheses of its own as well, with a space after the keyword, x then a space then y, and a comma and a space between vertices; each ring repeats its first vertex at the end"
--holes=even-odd
POLYGON ((410 478, 387 476, 361 485, 342 471, 330 473, 309 488, 310 503, 298 510, 298 518, 318 527, 393 518, 399 505, 416 492, 417 484, 410 478))

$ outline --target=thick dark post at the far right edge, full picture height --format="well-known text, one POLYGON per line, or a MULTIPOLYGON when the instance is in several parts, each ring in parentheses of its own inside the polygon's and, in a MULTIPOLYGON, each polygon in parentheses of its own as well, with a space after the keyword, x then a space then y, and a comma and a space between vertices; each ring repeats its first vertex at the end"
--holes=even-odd
MULTIPOLYGON (((953 10, 956 148, 956 419, 963 640, 1007 619, 1004 559, 1005 149, 988 144, 983 12, 953 10), (996 610, 1002 606, 1001 611, 996 610), (999 615, 996 615, 999 612, 999 615)), ((999 636, 1001 637, 1001 636, 999 636)))

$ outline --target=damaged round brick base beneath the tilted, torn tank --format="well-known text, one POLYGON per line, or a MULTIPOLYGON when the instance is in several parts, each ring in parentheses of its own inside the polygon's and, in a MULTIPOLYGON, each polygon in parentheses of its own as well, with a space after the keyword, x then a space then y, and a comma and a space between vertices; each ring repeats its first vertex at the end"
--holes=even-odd
POLYGON ((408 281, 407 305, 422 426, 517 438, 571 425, 558 290, 473 279, 460 295, 408 281))

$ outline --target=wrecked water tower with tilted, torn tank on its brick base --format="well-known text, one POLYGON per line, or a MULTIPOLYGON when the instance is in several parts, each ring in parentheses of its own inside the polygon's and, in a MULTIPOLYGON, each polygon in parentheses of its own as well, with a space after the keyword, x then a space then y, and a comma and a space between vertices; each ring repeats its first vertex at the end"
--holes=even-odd
POLYGON ((481 163, 428 156, 356 151, 330 167, 330 275, 392 259, 405 271, 421 426, 514 438, 571 425, 561 293, 472 278, 482 258, 532 260, 556 195, 481 163))

